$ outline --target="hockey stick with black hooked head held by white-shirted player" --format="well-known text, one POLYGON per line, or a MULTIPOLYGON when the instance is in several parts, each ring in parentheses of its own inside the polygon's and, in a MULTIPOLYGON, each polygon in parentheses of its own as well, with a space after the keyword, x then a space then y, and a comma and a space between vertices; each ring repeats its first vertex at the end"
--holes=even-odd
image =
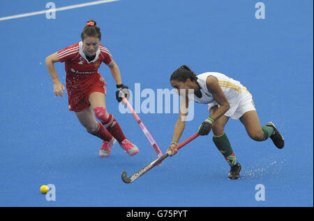
MULTIPOLYGON (((198 133, 194 134, 193 136, 190 136, 189 138, 187 138, 185 141, 183 141, 182 143, 180 143, 179 145, 177 145, 175 147, 175 149, 179 150, 180 148, 184 147, 184 145, 190 143, 190 141, 193 141, 195 138, 197 138, 197 136, 199 136, 198 133)), ((134 180, 136 180, 137 178, 139 178, 140 176, 142 176, 144 173, 146 173, 147 171, 149 171, 150 169, 152 169, 154 166, 160 164, 164 159, 166 159, 168 156, 170 155, 170 151, 166 152, 163 156, 159 157, 158 159, 155 159, 153 162, 151 162, 150 164, 147 164, 146 166, 144 166, 142 169, 140 169, 139 171, 137 171, 136 173, 134 173, 132 176, 127 177, 126 175, 126 171, 124 171, 121 175, 122 180, 124 181, 124 183, 132 183, 134 180)))

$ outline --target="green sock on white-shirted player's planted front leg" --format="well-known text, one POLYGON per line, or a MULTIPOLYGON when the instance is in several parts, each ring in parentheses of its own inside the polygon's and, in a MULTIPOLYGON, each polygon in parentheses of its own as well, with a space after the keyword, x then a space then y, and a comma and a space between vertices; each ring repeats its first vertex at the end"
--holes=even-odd
POLYGON ((223 154, 223 157, 227 160, 230 166, 237 164, 237 157, 235 157, 234 152, 231 148, 230 141, 227 135, 223 133, 220 136, 213 136, 213 141, 218 148, 218 150, 223 154))

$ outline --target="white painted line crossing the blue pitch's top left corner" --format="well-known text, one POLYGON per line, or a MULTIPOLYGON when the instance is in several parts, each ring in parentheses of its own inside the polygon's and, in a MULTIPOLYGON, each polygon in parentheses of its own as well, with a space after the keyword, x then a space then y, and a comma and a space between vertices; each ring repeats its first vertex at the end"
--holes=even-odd
MULTIPOLYGON (((112 1, 120 1, 120 0, 91 1, 91 2, 87 2, 87 3, 80 3, 77 5, 73 5, 73 6, 65 6, 65 7, 61 7, 61 8, 56 8, 54 11, 69 10, 69 9, 73 9, 73 8, 82 8, 82 7, 87 7, 87 6, 94 6, 94 5, 98 5, 100 3, 108 3, 108 2, 112 2, 112 1)), ((47 10, 49 10, 49 9, 47 9, 47 10)), ((33 13, 24 13, 24 14, 20 14, 20 15, 0 17, 0 21, 10 20, 10 19, 18 18, 18 17, 27 17, 27 16, 33 16, 33 15, 45 14, 45 13, 47 13, 47 10, 40 10, 40 11, 36 11, 33 13)))

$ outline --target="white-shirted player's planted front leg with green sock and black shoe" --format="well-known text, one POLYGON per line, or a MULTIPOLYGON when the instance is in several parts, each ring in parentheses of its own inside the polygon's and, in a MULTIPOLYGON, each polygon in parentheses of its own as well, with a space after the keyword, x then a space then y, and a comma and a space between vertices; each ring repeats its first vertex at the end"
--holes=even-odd
MULTIPOLYGON (((209 110, 209 117, 218 109, 218 106, 213 106, 209 110)), ((223 115, 213 124, 213 141, 216 148, 223 154, 225 160, 230 165, 230 179, 238 179, 240 176, 241 165, 237 161, 237 157, 234 155, 230 141, 225 134, 225 124, 227 124, 229 117, 223 115)))

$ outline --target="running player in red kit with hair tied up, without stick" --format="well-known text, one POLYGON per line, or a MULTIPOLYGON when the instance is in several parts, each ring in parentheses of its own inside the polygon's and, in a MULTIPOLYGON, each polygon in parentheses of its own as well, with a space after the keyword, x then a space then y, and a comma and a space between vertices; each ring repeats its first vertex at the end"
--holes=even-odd
POLYGON ((117 120, 107 112, 105 102, 107 83, 98 73, 100 64, 107 64, 117 83, 118 102, 122 100, 120 93, 124 94, 127 99, 129 98, 128 87, 122 84, 119 67, 112 59, 109 50, 100 45, 101 32, 94 20, 87 22, 81 38, 82 41, 79 43, 70 45, 46 58, 47 69, 54 84, 54 94, 62 97, 65 90, 59 81, 54 63, 65 62, 68 108, 75 112, 77 119, 89 134, 103 140, 99 156, 108 157, 115 141, 119 142, 128 155, 133 156, 139 152, 139 149, 128 141, 117 120))

